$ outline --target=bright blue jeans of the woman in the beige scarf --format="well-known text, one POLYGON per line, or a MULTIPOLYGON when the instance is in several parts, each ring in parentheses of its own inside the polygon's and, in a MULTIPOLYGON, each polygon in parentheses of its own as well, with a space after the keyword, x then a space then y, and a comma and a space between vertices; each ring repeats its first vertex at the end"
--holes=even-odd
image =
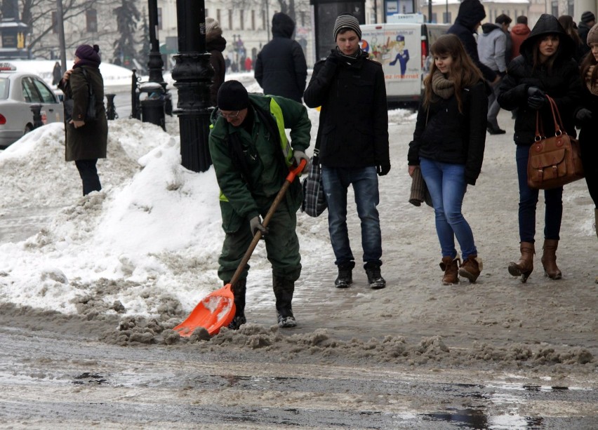
POLYGON ((459 241, 463 260, 467 260, 470 255, 477 255, 472 229, 461 213, 463 196, 467 190, 465 164, 420 159, 420 168, 432 196, 442 256, 457 256, 455 236, 459 241))

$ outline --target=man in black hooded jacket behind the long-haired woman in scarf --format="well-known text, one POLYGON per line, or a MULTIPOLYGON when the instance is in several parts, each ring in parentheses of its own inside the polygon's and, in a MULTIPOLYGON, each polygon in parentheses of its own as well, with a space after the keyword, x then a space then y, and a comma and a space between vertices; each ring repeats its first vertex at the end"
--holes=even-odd
POLYGON ((459 6, 459 13, 457 14, 455 23, 451 25, 447 33, 455 34, 461 40, 465 51, 467 51, 474 64, 481 70, 486 81, 489 83, 498 83, 500 76, 479 60, 477 42, 473 35, 484 18, 486 18, 486 11, 484 11, 484 6, 481 5, 479 0, 463 0, 459 6))

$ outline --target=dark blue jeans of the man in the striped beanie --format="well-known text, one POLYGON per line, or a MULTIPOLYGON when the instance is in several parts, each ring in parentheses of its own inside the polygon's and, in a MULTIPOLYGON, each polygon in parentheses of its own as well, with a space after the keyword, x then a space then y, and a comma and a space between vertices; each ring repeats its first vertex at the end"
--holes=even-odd
POLYGON ((328 231, 336 258, 334 264, 354 264, 347 230, 347 189, 353 186, 357 215, 361 220, 361 247, 364 262, 382 264, 382 234, 378 216, 378 175, 375 166, 333 168, 322 166, 322 182, 328 202, 328 231))

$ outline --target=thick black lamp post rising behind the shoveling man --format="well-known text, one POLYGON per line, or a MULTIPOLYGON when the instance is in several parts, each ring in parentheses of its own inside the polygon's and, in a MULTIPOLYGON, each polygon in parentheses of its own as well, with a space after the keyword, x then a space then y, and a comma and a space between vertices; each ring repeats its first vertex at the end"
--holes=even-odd
POLYGON ((206 52, 204 0, 177 0, 178 54, 172 76, 178 89, 175 114, 180 126, 182 166, 205 172, 212 160, 208 149, 210 86, 214 69, 206 52))

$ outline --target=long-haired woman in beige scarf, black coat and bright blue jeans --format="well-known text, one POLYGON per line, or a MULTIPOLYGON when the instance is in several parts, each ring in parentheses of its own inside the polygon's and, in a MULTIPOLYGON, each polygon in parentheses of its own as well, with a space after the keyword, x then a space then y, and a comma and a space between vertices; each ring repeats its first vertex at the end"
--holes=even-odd
POLYGON ((413 176, 420 166, 432 196, 442 283, 458 283, 458 276, 475 282, 482 262, 461 208, 467 185, 475 185, 484 159, 489 88, 454 34, 440 36, 430 51, 434 62, 409 144, 408 172, 413 176), (455 237, 463 257, 460 267, 455 237))

